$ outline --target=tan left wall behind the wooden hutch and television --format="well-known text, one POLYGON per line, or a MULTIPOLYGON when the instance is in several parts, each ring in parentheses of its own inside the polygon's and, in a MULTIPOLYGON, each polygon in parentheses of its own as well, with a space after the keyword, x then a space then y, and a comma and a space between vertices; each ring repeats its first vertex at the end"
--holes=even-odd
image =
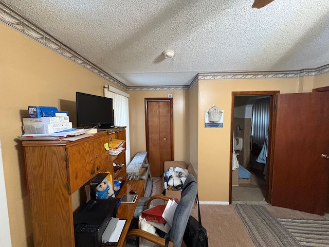
POLYGON ((28 105, 49 105, 70 110, 75 120, 76 91, 102 96, 111 83, 4 24, 0 33, 0 137, 12 246, 32 246, 23 148, 14 140, 22 135, 22 117, 28 105))

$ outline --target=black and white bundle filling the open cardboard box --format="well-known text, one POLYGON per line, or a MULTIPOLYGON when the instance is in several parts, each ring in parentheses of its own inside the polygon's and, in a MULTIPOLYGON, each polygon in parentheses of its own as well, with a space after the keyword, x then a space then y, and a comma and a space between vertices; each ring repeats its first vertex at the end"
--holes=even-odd
POLYGON ((163 173, 165 178, 165 189, 180 191, 183 188, 183 184, 189 175, 187 169, 180 167, 170 167, 168 171, 163 173))

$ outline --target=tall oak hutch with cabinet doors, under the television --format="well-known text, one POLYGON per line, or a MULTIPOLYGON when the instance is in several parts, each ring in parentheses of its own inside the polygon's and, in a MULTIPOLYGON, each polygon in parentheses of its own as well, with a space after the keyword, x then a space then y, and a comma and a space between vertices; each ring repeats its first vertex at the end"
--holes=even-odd
POLYGON ((125 129, 74 142, 27 140, 24 147, 36 247, 75 246, 71 195, 99 172, 126 179, 125 153, 109 155, 104 144, 124 139, 125 129), (113 162, 124 164, 115 174, 113 162))

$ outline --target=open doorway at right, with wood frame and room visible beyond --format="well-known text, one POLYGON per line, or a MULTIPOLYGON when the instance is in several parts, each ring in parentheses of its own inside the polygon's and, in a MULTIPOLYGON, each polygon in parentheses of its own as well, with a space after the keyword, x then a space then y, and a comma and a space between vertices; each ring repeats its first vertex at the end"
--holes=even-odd
POLYGON ((277 93, 232 93, 230 203, 270 202, 268 150, 273 139, 277 93))

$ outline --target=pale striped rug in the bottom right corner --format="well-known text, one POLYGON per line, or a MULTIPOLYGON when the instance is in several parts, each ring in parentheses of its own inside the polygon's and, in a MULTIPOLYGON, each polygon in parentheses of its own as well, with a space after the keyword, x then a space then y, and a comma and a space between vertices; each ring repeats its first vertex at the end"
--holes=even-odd
POLYGON ((329 220, 280 219, 302 246, 329 246, 329 220))

